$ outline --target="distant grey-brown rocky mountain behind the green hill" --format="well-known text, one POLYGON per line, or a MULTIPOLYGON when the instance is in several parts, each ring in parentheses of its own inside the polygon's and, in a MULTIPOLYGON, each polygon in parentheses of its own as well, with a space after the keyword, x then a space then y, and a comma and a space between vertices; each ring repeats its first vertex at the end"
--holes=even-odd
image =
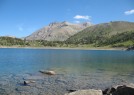
POLYGON ((78 31, 91 26, 90 23, 72 24, 69 22, 54 22, 49 24, 33 34, 27 36, 26 40, 46 40, 46 41, 64 41, 78 31))

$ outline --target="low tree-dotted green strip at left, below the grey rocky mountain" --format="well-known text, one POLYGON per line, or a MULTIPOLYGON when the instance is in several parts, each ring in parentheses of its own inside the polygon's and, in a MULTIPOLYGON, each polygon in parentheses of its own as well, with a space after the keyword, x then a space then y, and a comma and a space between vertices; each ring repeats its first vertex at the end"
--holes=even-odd
POLYGON ((44 40, 33 40, 26 41, 19 38, 2 36, 0 37, 0 46, 6 47, 59 47, 63 46, 62 41, 44 41, 44 40))

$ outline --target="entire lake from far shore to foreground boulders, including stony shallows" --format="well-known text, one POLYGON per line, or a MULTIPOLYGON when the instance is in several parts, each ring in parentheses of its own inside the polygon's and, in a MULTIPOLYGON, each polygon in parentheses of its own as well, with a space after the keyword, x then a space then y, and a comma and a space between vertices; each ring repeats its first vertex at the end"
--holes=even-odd
POLYGON ((134 83, 133 51, 0 49, 0 95, 64 95, 134 83), (51 69, 55 75, 39 70, 51 69), (24 85, 24 81, 34 81, 24 85))

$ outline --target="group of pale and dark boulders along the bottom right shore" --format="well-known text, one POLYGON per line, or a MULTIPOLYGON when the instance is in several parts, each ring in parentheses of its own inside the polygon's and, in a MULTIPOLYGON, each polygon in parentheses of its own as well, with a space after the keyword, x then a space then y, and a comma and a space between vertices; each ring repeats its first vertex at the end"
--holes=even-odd
POLYGON ((78 90, 65 95, 134 95, 134 84, 117 85, 105 90, 78 90))

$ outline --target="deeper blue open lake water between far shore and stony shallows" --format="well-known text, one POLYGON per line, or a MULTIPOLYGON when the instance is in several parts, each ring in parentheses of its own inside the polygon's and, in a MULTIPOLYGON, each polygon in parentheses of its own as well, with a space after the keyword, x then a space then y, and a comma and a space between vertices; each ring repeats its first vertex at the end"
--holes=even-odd
POLYGON ((134 74, 133 51, 65 50, 65 49, 0 49, 1 74, 38 73, 84 74, 109 72, 134 74))

